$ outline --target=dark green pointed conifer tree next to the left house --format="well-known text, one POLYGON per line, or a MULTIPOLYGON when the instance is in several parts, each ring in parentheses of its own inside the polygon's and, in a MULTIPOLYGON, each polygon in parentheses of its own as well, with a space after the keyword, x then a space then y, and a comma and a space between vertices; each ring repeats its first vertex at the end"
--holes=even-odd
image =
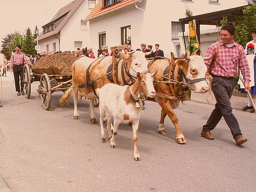
POLYGON ((36 55, 35 46, 36 43, 33 41, 35 40, 35 36, 32 35, 30 29, 26 29, 26 33, 23 34, 23 46, 22 46, 22 52, 24 52, 26 55, 36 55))

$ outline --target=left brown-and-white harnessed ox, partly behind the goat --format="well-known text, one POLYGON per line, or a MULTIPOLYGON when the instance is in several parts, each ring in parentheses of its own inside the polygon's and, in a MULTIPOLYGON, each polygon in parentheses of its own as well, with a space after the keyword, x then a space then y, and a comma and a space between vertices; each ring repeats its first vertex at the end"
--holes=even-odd
MULTIPOLYGON (((119 76, 119 82, 117 84, 124 86, 124 81, 121 78, 121 68, 122 68, 122 61, 125 61, 127 63, 127 70, 131 76, 136 77, 137 72, 143 73, 148 70, 147 65, 148 62, 145 59, 145 55, 147 53, 143 53, 141 51, 133 51, 129 52, 127 55, 121 52, 121 60, 118 64, 118 76, 119 76)), ((86 79, 86 70, 89 67, 89 65, 95 61, 96 59, 88 58, 88 57, 81 57, 77 61, 75 61, 72 65, 72 86, 73 88, 68 89, 64 95, 60 99, 61 105, 64 105, 64 102, 67 100, 67 98, 71 95, 72 91, 74 94, 73 100, 74 100, 74 119, 80 119, 79 113, 77 111, 77 102, 78 98, 80 99, 82 97, 90 98, 90 121, 96 122, 96 116, 94 112, 94 99, 97 99, 97 96, 93 93, 92 86, 84 87, 77 87, 78 85, 84 84, 86 79)), ((107 73, 108 67, 112 64, 112 57, 107 56, 104 58, 100 58, 99 60, 95 61, 91 67, 90 67, 90 73, 89 73, 89 80, 96 80, 94 83, 94 88, 97 93, 97 89, 103 87, 105 84, 113 83, 110 81, 107 76, 104 76, 107 73), (102 77, 102 78, 101 78, 102 77)), ((124 79, 128 84, 132 84, 132 80, 127 75, 127 73, 124 73, 124 79)), ((98 95, 98 94, 97 94, 98 95)), ((99 95, 98 95, 99 96, 99 95)), ((108 98, 113 99, 113 98, 108 98)))

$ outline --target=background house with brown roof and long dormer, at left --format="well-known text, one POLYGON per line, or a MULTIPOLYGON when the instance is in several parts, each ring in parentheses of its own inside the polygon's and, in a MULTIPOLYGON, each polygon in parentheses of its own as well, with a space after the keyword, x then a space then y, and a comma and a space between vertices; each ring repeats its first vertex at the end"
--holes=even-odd
POLYGON ((89 23, 84 21, 99 0, 73 0, 62 7, 38 35, 39 52, 76 51, 89 41, 89 23))

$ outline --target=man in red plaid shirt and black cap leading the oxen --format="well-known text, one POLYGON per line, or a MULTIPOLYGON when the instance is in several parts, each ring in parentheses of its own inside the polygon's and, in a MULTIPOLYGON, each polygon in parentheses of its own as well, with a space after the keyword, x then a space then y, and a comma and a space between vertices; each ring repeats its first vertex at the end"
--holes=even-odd
MULTIPOLYGON (((214 140, 214 136, 210 131, 215 128, 223 116, 236 144, 241 145, 247 139, 242 137, 238 121, 232 113, 230 98, 235 87, 234 77, 238 73, 238 68, 244 77, 245 89, 250 90, 250 69, 244 48, 233 41, 234 33, 235 27, 232 24, 224 25, 221 28, 221 41, 212 44, 205 55, 217 54, 217 59, 211 71, 212 92, 217 103, 207 123, 203 126, 201 136, 214 140)), ((207 68, 209 68, 211 61, 205 62, 207 68)), ((209 72, 207 72, 206 78, 209 79, 209 72)))

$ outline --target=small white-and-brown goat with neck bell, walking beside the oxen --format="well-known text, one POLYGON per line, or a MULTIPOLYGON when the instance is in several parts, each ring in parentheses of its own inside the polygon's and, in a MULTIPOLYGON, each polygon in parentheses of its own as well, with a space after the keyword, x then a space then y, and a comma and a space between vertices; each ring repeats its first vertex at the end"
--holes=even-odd
POLYGON ((138 72, 137 80, 131 86, 119 86, 117 84, 110 83, 105 84, 99 90, 99 123, 101 127, 102 142, 105 143, 105 130, 103 128, 104 118, 108 119, 107 130, 108 139, 111 140, 111 148, 116 148, 115 138, 119 123, 131 122, 134 142, 134 160, 136 161, 140 160, 140 154, 137 146, 137 135, 141 114, 141 107, 136 108, 136 102, 140 102, 143 99, 145 100, 145 96, 150 98, 155 96, 155 90, 152 83, 152 76, 155 74, 156 73, 150 74, 148 70, 144 74, 140 74, 138 72), (112 120, 113 125, 111 124, 112 120))

